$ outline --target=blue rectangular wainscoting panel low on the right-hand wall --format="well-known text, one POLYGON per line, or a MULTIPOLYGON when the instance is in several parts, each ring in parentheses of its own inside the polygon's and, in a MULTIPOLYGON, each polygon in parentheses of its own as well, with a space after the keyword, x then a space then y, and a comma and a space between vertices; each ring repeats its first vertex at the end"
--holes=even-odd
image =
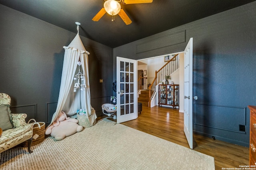
POLYGON ((194 124, 237 133, 239 125, 246 125, 246 108, 194 104, 194 124))

